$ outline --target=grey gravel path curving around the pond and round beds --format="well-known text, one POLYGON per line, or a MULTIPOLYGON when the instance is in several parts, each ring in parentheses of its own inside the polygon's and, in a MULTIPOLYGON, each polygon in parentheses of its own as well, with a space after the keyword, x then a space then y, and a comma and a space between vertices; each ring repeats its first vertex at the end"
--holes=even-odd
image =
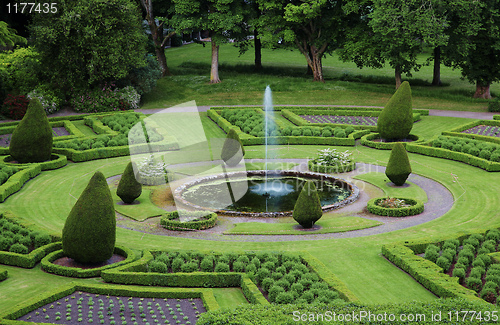
MULTIPOLYGON (((263 161, 262 159, 253 160, 253 162, 262 162, 262 161, 263 161)), ((298 166, 295 167, 296 170, 304 170, 307 168, 306 159, 282 159, 280 161, 299 164, 298 166)), ((349 173, 339 174, 339 177, 351 181, 352 177, 356 175, 364 174, 366 172, 383 173, 384 171, 385 167, 382 166, 358 163, 356 165, 356 170, 349 173)), ((361 191, 360 198, 356 202, 342 209, 336 210, 339 213, 347 212, 349 213, 349 215, 352 216, 376 220, 383 223, 382 225, 373 228, 354 230, 343 233, 310 234, 310 235, 224 235, 223 232, 230 229, 234 223, 274 222, 274 219, 221 217, 218 225, 216 225, 211 229, 203 231, 182 232, 182 231, 169 231, 160 227, 154 227, 155 225, 157 225, 158 220, 156 220, 156 218, 152 218, 148 219, 147 221, 151 223, 148 227, 149 231, 143 231, 143 232, 150 233, 152 231, 154 234, 157 235, 174 236, 181 238, 217 240, 217 241, 238 241, 238 242, 242 241, 274 242, 274 241, 295 241, 295 240, 318 240, 318 239, 328 239, 328 238, 353 238, 353 237, 378 235, 420 225, 425 222, 439 218, 453 206, 454 200, 452 194, 448 191, 446 187, 444 187, 440 183, 430 178, 426 178, 416 174, 410 175, 408 180, 421 187, 426 192, 428 197, 428 202, 425 204, 425 210, 423 213, 419 215, 405 217, 405 218, 391 218, 391 217, 381 217, 370 214, 366 211, 365 207, 368 200, 370 200, 372 197, 368 195, 365 191, 361 191), (351 211, 352 214, 350 213, 351 211)), ((366 184, 364 182, 361 183, 366 184)), ((133 223, 130 222, 128 222, 127 225, 124 226, 124 228, 141 231, 138 228, 135 228, 133 223)))

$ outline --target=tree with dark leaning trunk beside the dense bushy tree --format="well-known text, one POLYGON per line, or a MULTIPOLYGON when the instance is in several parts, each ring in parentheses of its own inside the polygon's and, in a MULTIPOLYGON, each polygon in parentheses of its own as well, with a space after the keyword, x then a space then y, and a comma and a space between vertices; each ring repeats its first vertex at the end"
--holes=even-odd
POLYGON ((167 42, 176 34, 175 30, 168 30, 165 33, 168 18, 172 15, 173 5, 170 0, 140 0, 141 5, 146 12, 146 21, 151 31, 151 38, 155 46, 155 54, 158 63, 160 64, 163 76, 169 76, 170 70, 167 65, 167 57, 165 55, 165 46, 167 42), (153 2, 155 6, 153 8, 153 2))

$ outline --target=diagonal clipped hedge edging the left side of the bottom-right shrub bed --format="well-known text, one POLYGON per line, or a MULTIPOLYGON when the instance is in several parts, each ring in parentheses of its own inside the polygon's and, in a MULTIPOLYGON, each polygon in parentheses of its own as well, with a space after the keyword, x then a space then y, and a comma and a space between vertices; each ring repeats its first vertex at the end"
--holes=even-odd
MULTIPOLYGON (((419 243, 425 251, 428 243, 419 243)), ((421 285, 441 298, 463 298, 469 301, 487 304, 484 300, 477 297, 473 290, 466 289, 458 283, 457 277, 450 277, 442 272, 442 268, 415 254, 422 253, 419 249, 414 252, 411 244, 390 244, 382 246, 382 255, 410 274, 421 285)))

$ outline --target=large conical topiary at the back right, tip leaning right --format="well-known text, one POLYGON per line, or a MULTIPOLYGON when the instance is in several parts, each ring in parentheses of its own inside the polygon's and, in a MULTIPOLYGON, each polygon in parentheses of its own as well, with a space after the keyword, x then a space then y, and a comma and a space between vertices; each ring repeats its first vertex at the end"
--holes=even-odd
POLYGON ((413 127, 411 89, 408 81, 399 86, 377 120, 377 131, 385 140, 405 139, 413 127))

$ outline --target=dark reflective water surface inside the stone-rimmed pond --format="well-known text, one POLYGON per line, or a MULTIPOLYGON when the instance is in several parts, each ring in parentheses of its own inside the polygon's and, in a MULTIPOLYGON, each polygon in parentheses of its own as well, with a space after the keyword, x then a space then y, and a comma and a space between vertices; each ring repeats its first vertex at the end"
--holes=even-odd
MULTIPOLYGON (((238 182, 248 182, 248 191, 237 202, 229 206, 221 206, 218 197, 225 197, 228 183, 221 179, 209 183, 201 183, 188 188, 182 197, 196 205, 210 208, 238 212, 279 212, 291 211, 300 194, 306 178, 293 176, 268 176, 232 179, 231 186, 238 186, 238 182), (222 195, 218 195, 221 193, 222 195)), ((321 205, 330 205, 346 199, 350 190, 344 183, 315 180, 321 205)))

